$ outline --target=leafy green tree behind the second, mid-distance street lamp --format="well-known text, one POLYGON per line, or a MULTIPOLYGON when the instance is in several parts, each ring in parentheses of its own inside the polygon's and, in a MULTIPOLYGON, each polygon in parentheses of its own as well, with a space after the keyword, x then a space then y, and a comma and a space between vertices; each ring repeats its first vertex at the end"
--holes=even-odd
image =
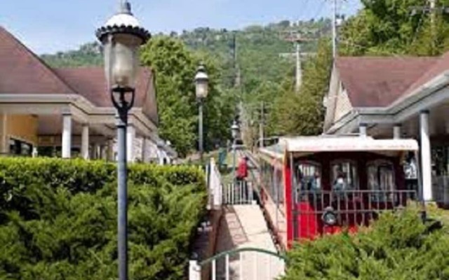
POLYGON ((206 149, 214 141, 223 141, 234 113, 235 97, 217 85, 220 73, 217 61, 201 53, 187 50, 182 41, 159 36, 142 48, 142 62, 154 69, 159 108, 159 133, 168 139, 180 155, 196 147, 198 106, 194 91, 194 76, 199 62, 206 64, 209 95, 203 111, 206 149))

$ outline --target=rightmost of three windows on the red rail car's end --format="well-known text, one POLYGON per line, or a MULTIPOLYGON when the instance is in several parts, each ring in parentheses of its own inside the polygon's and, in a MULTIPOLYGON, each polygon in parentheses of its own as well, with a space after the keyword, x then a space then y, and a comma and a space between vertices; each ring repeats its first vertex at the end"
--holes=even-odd
POLYGON ((368 163, 368 188, 373 190, 376 200, 387 200, 396 186, 394 183, 394 167, 391 162, 375 160, 368 163))

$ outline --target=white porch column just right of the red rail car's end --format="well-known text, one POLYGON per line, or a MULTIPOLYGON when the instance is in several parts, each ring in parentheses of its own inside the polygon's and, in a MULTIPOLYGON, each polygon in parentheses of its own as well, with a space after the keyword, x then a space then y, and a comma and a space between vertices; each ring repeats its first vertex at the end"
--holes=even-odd
POLYGON ((424 201, 432 200, 432 179, 431 179, 431 151, 429 139, 429 111, 420 113, 420 136, 421 136, 421 174, 422 174, 422 195, 424 201))

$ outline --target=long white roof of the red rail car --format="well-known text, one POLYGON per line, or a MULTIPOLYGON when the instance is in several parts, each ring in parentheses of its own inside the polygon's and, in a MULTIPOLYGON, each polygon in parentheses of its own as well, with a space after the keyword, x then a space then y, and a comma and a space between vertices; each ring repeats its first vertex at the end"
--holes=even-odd
POLYGON ((414 139, 373 139, 372 137, 282 137, 279 143, 261 148, 260 152, 273 158, 285 153, 306 155, 322 152, 373 152, 389 155, 403 151, 417 151, 414 139))

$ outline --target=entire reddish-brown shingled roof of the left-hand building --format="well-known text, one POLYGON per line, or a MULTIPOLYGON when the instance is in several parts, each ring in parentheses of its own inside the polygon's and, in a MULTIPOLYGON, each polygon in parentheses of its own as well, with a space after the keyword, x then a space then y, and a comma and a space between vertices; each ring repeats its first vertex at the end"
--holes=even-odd
MULTIPOLYGON (((135 107, 158 123, 151 69, 141 68, 135 107)), ((80 94, 98 107, 112 107, 102 67, 53 69, 0 26, 1 94, 80 94)))

